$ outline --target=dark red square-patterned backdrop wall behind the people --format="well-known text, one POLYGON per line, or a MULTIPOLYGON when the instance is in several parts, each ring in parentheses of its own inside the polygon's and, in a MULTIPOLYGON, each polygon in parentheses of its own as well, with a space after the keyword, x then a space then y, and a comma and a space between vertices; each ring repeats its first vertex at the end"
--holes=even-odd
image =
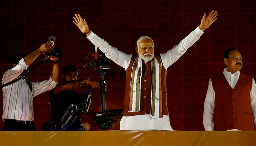
MULTIPOLYGON (((67 64, 79 67, 79 78, 99 81, 98 73, 83 68, 92 44, 72 22, 79 13, 90 29, 112 46, 134 54, 136 40, 142 35, 154 39, 155 53, 165 53, 195 29, 211 10, 218 11, 218 20, 198 42, 167 70, 167 98, 170 123, 174 130, 204 130, 202 115, 208 81, 225 67, 222 52, 236 47, 245 57, 242 72, 256 77, 256 0, 1 0, 0 2, 0 74, 8 69, 7 57, 14 53, 31 53, 49 36, 56 37, 62 49, 60 71, 67 64)), ((29 74, 30 81, 49 78, 52 64, 44 62, 29 74)), ((125 70, 113 62, 105 75, 108 92, 106 108, 123 108, 125 70)), ((62 82, 62 81, 60 81, 62 82)), ((87 90, 86 86, 77 89, 87 90)), ((99 94, 94 90, 93 95, 99 94)), ((98 101, 100 101, 98 97, 98 101)), ((93 100, 94 111, 101 107, 93 100)), ((2 107, 2 100, 0 105, 2 107)), ((34 98, 37 130, 49 119, 49 96, 34 98)), ((1 108, 1 114, 3 113, 1 108)), ((91 115, 82 122, 90 130, 99 130, 91 115)), ((119 121, 110 130, 119 129, 119 121)), ((0 120, 0 128, 3 121, 0 120)))

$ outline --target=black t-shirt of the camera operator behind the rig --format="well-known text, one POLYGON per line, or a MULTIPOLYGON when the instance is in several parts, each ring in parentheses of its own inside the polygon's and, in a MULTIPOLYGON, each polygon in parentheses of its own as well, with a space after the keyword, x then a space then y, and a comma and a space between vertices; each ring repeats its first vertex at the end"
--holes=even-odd
MULTIPOLYGON (((85 96, 79 94, 74 90, 65 90, 54 95, 53 90, 49 91, 50 105, 51 105, 51 115, 50 122, 61 124, 61 116, 67 111, 69 105, 80 104, 85 96)), ((80 113, 75 114, 77 117, 74 119, 72 125, 68 128, 69 130, 79 130, 81 124, 80 113)))

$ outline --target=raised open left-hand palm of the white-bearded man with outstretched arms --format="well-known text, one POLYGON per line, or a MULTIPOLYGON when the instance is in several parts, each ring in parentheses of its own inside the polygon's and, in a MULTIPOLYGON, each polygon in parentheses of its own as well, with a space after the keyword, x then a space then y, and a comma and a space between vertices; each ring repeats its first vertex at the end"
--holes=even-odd
POLYGON ((75 21, 73 21, 74 24, 76 24, 76 26, 78 26, 78 28, 84 33, 84 34, 88 34, 90 29, 85 21, 85 19, 83 19, 79 14, 75 14, 75 16, 73 17, 75 21))

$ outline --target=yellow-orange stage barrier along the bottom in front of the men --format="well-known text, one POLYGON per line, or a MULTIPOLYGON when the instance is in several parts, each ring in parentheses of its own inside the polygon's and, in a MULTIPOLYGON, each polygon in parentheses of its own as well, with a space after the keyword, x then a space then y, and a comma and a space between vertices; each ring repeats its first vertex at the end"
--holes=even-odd
POLYGON ((1 146, 256 146, 256 131, 0 131, 1 146))

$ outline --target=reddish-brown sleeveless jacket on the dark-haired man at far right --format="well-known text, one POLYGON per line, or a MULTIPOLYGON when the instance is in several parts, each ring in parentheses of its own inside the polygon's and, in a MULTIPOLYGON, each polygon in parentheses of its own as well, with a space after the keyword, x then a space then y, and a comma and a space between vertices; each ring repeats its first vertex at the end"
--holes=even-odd
POLYGON ((211 81, 215 92, 214 130, 254 130, 250 98, 252 77, 240 72, 234 89, 223 74, 211 81))

